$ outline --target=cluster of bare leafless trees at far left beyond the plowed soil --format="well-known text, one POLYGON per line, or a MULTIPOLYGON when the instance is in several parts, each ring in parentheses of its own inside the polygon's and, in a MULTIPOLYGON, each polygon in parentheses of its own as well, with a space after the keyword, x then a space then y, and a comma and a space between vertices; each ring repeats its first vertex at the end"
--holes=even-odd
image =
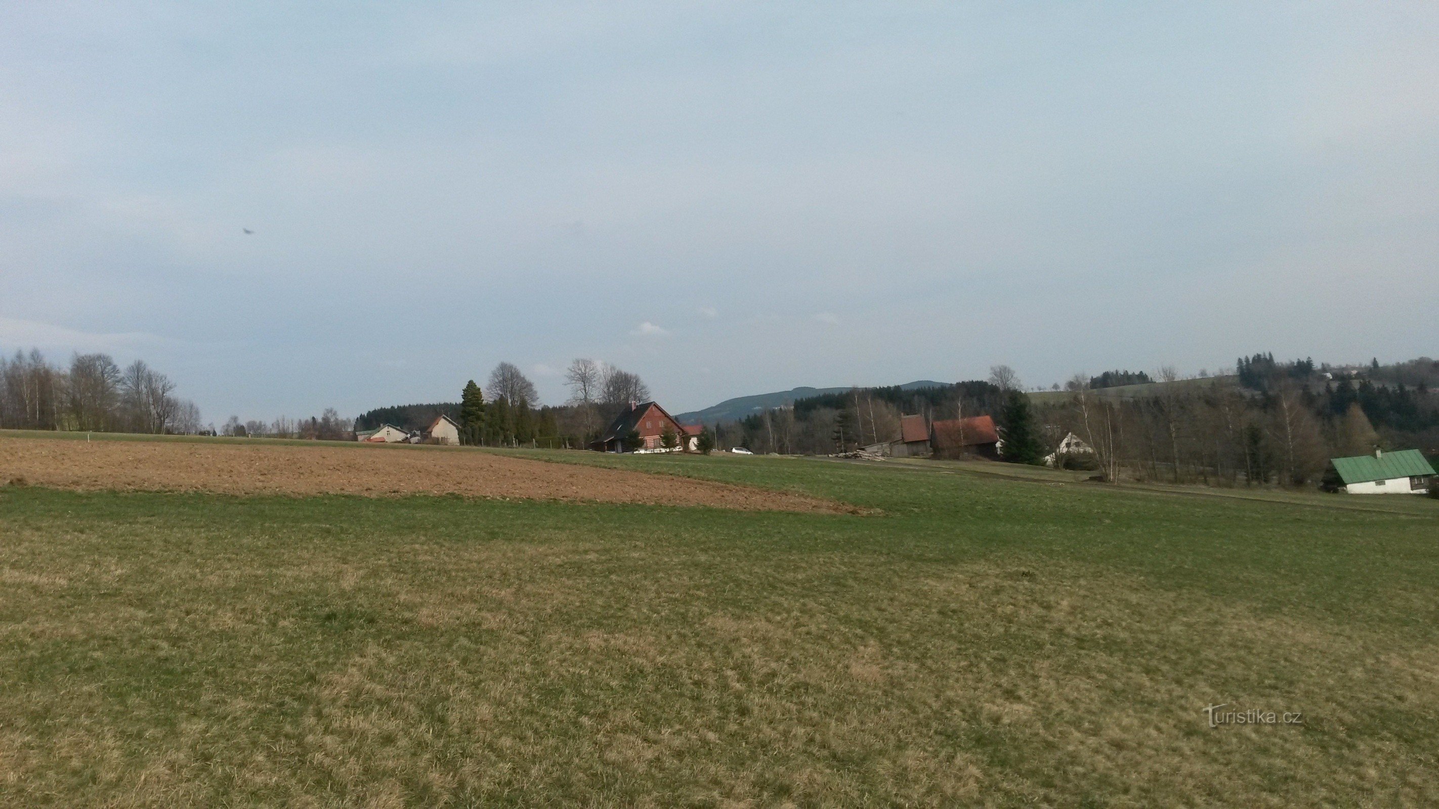
POLYGON ((75 353, 52 365, 39 349, 0 356, 0 427, 176 433, 204 430, 200 408, 145 361, 121 368, 106 353, 75 353))

